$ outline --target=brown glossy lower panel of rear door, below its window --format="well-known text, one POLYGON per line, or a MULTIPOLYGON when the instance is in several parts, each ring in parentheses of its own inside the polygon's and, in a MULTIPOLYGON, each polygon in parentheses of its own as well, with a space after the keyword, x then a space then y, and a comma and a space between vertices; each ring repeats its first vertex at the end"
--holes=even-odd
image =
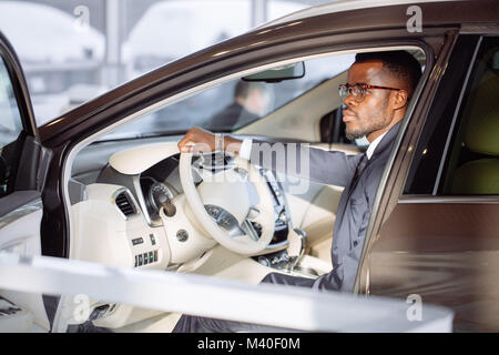
POLYGON ((399 203, 369 258, 369 293, 456 312, 455 331, 499 331, 499 204, 399 203))

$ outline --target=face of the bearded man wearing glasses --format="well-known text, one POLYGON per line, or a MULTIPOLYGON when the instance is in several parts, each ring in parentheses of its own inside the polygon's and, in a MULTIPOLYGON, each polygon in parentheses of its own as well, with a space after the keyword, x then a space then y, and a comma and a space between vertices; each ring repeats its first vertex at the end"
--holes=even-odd
MULTIPOLYGON (((400 88, 399 80, 386 73, 380 61, 354 63, 348 70, 348 84, 354 85, 356 83, 400 88)), ((396 92, 368 89, 360 102, 357 102, 352 94, 348 95, 345 99, 346 109, 343 111, 347 138, 354 140, 366 135, 367 140, 373 142, 386 132, 394 120, 396 108, 391 95, 396 92)))

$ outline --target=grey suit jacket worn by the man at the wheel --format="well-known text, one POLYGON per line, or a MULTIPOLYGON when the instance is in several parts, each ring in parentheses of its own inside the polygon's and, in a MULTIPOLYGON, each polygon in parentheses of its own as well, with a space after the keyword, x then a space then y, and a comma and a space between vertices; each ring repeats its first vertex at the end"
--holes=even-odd
MULTIPOLYGON (((345 186, 339 200, 333 232, 333 271, 319 276, 308 286, 319 290, 353 292, 374 199, 399 126, 400 123, 396 124, 381 139, 352 192, 348 192, 349 185, 361 154, 346 155, 343 152, 308 149, 304 145, 297 146, 296 156, 302 156, 301 150, 307 150, 309 171, 299 171, 295 174, 296 176, 324 184, 345 186)), ((254 142, 252 145, 252 164, 286 173, 286 171, 283 171, 284 164, 276 163, 275 160, 269 164, 268 160, 263 159, 262 145, 264 144, 262 143, 264 142, 254 142)), ((287 152, 287 150, 285 151, 287 152)), ((281 282, 267 277, 268 282, 293 284, 289 280, 289 277, 286 277, 285 282, 281 282)), ((296 282, 301 283, 302 286, 304 285, 301 280, 296 282)))

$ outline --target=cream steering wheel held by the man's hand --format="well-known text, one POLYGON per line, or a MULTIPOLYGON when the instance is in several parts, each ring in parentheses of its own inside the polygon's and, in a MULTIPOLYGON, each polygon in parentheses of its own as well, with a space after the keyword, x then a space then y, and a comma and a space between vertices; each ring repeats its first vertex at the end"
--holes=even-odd
POLYGON ((194 219, 211 237, 235 253, 256 255, 264 251, 275 227, 274 204, 264 178, 248 161, 235 156, 232 168, 218 172, 197 168, 203 182, 196 187, 192 156, 181 153, 179 172, 194 219), (258 195, 256 205, 249 202, 249 184, 258 195), (249 222, 262 226, 259 237, 249 222))

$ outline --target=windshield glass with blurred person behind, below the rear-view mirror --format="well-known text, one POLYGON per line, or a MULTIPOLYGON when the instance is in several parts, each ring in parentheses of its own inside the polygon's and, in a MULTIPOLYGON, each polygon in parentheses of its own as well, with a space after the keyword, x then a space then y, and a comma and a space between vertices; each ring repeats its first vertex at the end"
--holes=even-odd
POLYGON ((345 72, 354 59, 355 54, 315 58, 305 62, 303 78, 281 82, 248 82, 238 78, 129 122, 103 140, 184 133, 195 125, 233 132, 345 72))

